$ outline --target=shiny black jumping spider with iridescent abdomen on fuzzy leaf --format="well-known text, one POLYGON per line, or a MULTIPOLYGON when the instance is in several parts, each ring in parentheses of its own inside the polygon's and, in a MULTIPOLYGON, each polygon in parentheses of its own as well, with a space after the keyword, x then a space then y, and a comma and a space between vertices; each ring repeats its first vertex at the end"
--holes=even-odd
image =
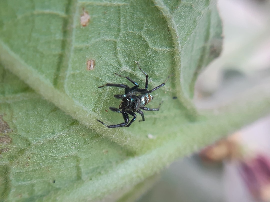
MULTIPOLYGON (((159 107, 161 104, 159 104, 158 108, 147 108, 144 107, 147 103, 151 102, 153 99, 153 96, 149 95, 149 93, 159 89, 160 87, 165 85, 165 82, 168 80, 170 76, 164 81, 164 83, 160 84, 156 88, 153 88, 152 90, 147 90, 148 87, 148 75, 140 68, 139 62, 135 61, 138 65, 138 68, 145 74, 146 76, 146 81, 145 81, 145 88, 139 88, 138 83, 130 79, 128 76, 121 76, 119 74, 114 73, 117 76, 124 77, 127 80, 129 80, 131 83, 133 83, 135 86, 132 88, 129 88, 129 86, 124 85, 124 84, 116 84, 116 83, 106 83, 103 86, 99 86, 99 88, 102 88, 104 86, 114 86, 114 87, 119 87, 119 88, 124 88, 125 89, 125 94, 124 95, 114 95, 114 97, 122 99, 122 102, 119 105, 119 109, 114 108, 114 107, 109 107, 110 110, 113 112, 118 112, 123 114, 124 122, 116 125, 107 125, 104 124, 102 121, 98 120, 100 123, 102 123, 104 126, 107 126, 108 128, 117 128, 117 127, 129 127, 133 121, 136 119, 136 114, 134 112, 137 112, 141 114, 141 117, 143 118, 142 121, 144 121, 144 114, 140 110, 146 110, 146 111, 158 111, 159 107), (133 116, 133 119, 129 122, 129 115, 133 116)), ((141 121, 141 120, 140 120, 141 121)))

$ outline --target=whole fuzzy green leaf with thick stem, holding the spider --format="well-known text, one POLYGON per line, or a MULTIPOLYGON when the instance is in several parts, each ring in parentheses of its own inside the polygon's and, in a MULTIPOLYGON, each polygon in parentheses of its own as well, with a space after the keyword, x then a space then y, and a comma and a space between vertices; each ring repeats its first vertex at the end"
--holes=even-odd
POLYGON ((136 188, 123 187, 268 113, 269 82, 225 107, 196 111, 194 83, 218 56, 220 36, 214 1, 1 1, 0 62, 45 99, 0 67, 0 114, 13 131, 12 141, 0 145, 0 196, 89 201, 129 191, 124 201, 136 188), (91 17, 86 27, 83 8, 91 17), (87 60, 95 60, 91 71, 87 60), (108 129, 96 119, 123 121, 106 112, 123 90, 97 86, 130 85, 114 72, 144 86, 135 60, 149 75, 149 89, 173 74, 147 105, 163 101, 161 109, 129 128, 108 129))

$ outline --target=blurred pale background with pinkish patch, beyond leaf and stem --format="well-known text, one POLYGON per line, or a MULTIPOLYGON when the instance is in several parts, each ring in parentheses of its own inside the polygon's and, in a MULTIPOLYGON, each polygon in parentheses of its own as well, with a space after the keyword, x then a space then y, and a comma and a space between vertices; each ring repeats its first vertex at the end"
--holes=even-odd
MULTIPOLYGON (((223 49, 197 80, 199 109, 270 83, 270 1, 219 0, 218 9, 223 49)), ((174 162, 142 201, 270 201, 270 114, 174 162)))

